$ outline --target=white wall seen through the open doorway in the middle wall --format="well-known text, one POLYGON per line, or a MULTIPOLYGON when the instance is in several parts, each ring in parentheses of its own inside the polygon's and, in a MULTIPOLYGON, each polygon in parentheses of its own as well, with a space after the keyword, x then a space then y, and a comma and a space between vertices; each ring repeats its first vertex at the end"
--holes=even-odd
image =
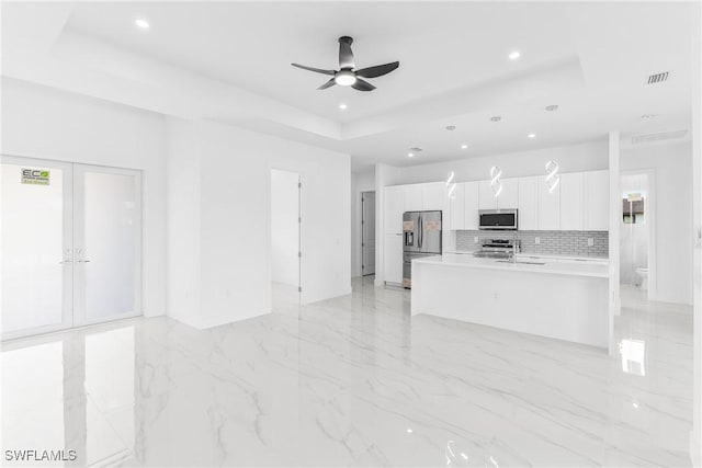
POLYGON ((297 172, 271 171, 271 276, 273 283, 298 286, 299 236, 297 172))

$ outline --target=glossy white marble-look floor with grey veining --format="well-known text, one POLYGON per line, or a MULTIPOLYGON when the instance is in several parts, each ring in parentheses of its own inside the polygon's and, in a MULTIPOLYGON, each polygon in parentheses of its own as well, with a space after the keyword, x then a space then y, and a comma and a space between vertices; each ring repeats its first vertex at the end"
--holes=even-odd
POLYGON ((614 356, 411 318, 407 292, 367 279, 208 331, 136 319, 5 343, 3 454, 76 449, 67 466, 689 466, 691 311, 636 290, 624 303, 614 356))

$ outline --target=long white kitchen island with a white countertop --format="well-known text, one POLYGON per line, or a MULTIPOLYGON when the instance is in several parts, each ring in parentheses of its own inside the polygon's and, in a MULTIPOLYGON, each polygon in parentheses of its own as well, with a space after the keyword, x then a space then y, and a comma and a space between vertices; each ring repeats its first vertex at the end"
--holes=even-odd
POLYGON ((450 253, 412 261, 412 316, 608 347, 608 295, 605 261, 450 253))

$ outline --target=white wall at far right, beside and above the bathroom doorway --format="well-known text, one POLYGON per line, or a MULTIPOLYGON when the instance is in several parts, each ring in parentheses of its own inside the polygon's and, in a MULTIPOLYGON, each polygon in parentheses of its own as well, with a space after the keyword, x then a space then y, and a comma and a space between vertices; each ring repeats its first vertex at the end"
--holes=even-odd
MULTIPOLYGON (((622 149, 621 170, 654 171, 656 277, 652 300, 692 304, 692 148, 690 144, 622 149)), ((653 260, 653 259, 652 259, 653 260)))

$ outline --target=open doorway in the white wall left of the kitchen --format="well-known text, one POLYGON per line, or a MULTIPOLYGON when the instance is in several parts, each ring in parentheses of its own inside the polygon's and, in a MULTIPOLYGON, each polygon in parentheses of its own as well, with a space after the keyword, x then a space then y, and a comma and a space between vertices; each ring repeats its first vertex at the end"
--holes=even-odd
POLYGON ((301 190, 297 172, 271 170, 271 289, 276 311, 301 301, 301 190))

